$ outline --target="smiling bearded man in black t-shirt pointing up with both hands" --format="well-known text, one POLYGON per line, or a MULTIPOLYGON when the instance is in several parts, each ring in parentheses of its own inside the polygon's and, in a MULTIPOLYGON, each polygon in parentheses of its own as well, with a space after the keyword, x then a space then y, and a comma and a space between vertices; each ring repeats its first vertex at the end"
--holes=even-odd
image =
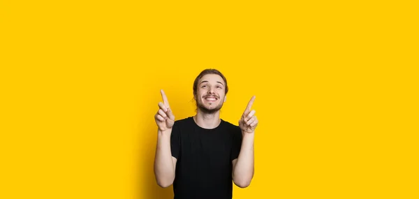
POLYGON ((205 69, 193 82, 196 115, 175 121, 161 90, 154 175, 161 187, 173 184, 175 199, 231 199, 233 182, 244 188, 253 178, 255 96, 236 126, 220 119, 227 92, 224 75, 205 69))

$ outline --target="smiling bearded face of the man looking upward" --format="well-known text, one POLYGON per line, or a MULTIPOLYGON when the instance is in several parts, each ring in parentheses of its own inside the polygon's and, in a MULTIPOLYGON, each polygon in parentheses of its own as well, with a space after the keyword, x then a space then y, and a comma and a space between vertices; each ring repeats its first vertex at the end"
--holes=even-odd
POLYGON ((196 105, 205 113, 214 113, 221 109, 226 101, 226 89, 223 78, 216 74, 204 75, 196 88, 196 105))

